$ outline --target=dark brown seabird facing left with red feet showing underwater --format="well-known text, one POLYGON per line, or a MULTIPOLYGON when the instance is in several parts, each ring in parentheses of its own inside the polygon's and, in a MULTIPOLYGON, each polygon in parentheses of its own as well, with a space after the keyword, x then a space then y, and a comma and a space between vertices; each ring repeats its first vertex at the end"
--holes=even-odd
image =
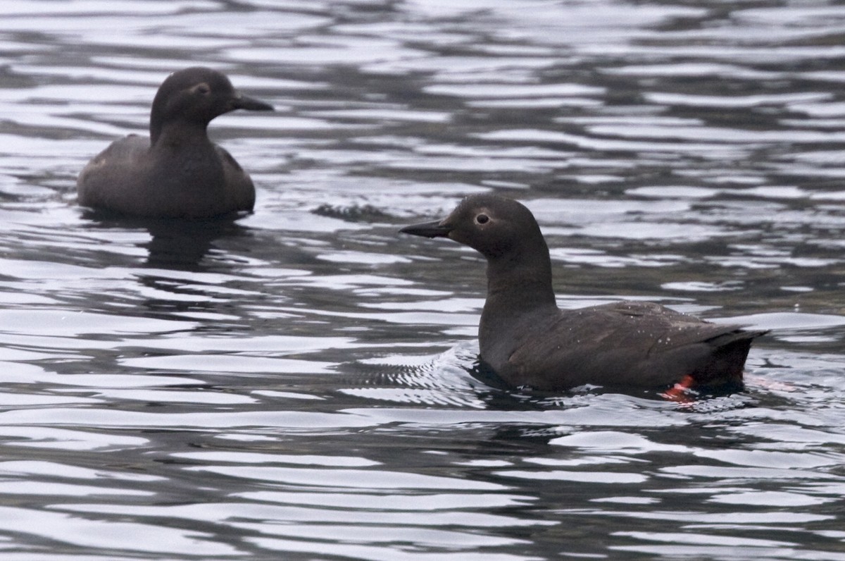
POLYGON ((651 302, 560 310, 537 221, 525 206, 501 196, 470 195, 443 220, 401 232, 454 239, 487 258, 480 358, 512 387, 741 384, 751 341, 766 333, 651 302))

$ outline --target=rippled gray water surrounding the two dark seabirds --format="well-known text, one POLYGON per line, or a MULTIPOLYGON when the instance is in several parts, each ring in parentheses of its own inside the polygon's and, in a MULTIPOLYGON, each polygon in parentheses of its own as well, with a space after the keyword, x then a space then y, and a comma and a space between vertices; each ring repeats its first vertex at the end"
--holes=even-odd
POLYGON ((0 558, 845 559, 845 5, 0 3, 0 558), (210 65, 236 223, 74 182, 210 65), (505 393, 480 259, 524 201, 559 305, 771 329, 744 391, 505 393))

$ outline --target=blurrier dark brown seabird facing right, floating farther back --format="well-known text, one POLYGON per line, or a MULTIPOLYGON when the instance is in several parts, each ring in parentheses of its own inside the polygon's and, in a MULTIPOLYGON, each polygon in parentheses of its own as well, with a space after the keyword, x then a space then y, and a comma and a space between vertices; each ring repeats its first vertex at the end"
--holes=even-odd
POLYGON ((251 211, 252 179, 207 134, 211 119, 235 109, 273 107, 243 96, 216 70, 170 74, 153 100, 150 137, 128 135, 88 162, 76 182, 79 205, 152 218, 251 211))

